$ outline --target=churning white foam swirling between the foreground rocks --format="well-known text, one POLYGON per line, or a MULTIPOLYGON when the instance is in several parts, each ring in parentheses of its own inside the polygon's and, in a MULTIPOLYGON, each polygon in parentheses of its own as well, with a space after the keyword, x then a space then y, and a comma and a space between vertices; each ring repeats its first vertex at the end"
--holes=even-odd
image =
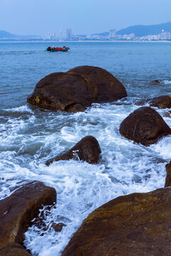
POLYGON ((0 134, 0 197, 9 196, 20 181, 43 181, 57 191, 57 205, 50 214, 44 213, 45 225, 50 227, 52 221, 66 225, 61 233, 29 228, 25 245, 33 255, 59 256, 82 220, 103 203, 164 186, 170 137, 145 147, 118 132, 122 120, 136 108, 97 104, 75 114, 36 111, 25 119, 9 115, 0 134), (96 137, 101 146, 99 164, 70 160, 45 166, 47 159, 67 151, 87 135, 96 137))

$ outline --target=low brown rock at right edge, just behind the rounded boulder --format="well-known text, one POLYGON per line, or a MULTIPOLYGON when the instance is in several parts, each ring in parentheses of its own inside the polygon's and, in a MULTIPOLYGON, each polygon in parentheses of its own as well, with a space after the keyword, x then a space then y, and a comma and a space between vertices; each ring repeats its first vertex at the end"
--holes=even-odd
POLYGON ((161 95, 159 97, 154 97, 153 99, 141 100, 136 102, 136 105, 143 105, 148 103, 150 107, 158 107, 160 109, 170 108, 171 107, 171 97, 168 95, 161 95))

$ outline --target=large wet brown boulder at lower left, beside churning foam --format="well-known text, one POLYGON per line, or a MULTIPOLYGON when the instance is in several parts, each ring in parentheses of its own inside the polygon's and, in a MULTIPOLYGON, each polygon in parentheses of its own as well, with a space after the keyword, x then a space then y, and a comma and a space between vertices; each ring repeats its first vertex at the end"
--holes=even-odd
POLYGON ((22 243, 23 234, 36 218, 42 205, 56 201, 55 188, 33 181, 0 201, 0 248, 9 242, 22 243))

